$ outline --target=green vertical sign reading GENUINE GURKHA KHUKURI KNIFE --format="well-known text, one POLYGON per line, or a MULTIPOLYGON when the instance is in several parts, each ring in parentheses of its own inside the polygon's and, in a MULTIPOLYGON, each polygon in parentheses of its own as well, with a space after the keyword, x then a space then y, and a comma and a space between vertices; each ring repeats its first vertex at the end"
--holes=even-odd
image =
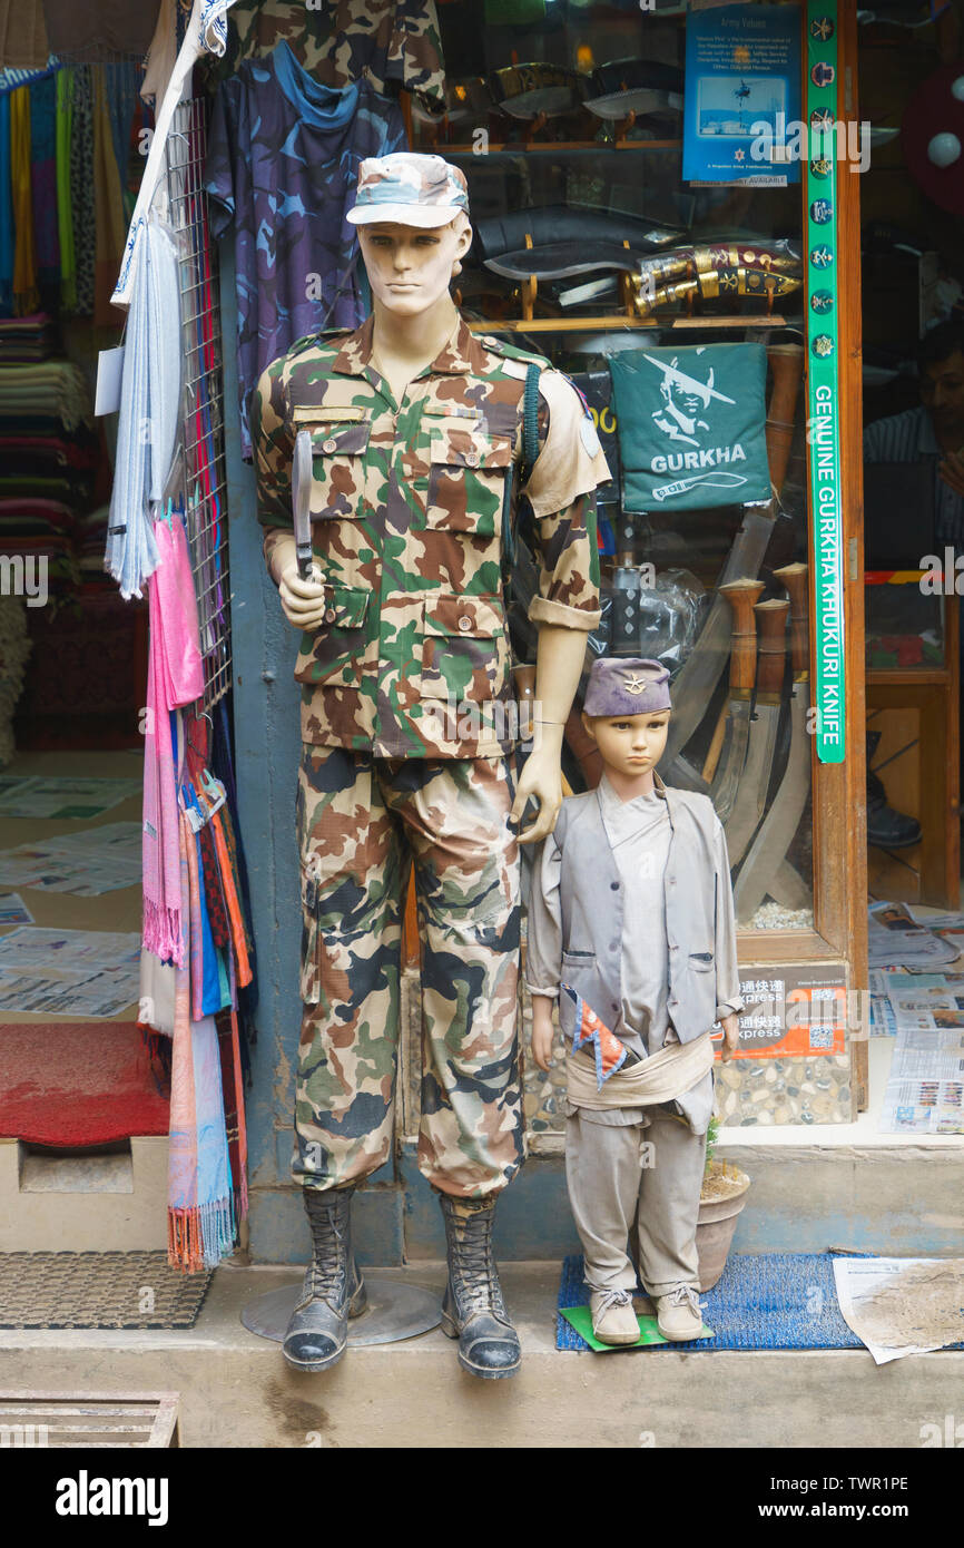
POLYGON ((843 512, 837 390, 837 0, 806 6, 806 382, 817 757, 843 762, 843 512))

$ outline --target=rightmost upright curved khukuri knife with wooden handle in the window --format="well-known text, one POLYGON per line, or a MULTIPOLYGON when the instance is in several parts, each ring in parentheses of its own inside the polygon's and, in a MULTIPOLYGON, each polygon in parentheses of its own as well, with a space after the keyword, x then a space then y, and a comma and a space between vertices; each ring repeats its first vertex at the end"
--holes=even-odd
POLYGON ((766 893, 786 909, 802 909, 812 902, 812 892, 786 861, 786 851, 803 816, 811 788, 811 745, 806 715, 809 709, 809 630, 806 611, 806 565, 783 565, 774 570, 791 594, 791 663, 794 690, 791 698, 791 749, 780 788, 771 802, 733 887, 737 920, 754 916, 766 893))

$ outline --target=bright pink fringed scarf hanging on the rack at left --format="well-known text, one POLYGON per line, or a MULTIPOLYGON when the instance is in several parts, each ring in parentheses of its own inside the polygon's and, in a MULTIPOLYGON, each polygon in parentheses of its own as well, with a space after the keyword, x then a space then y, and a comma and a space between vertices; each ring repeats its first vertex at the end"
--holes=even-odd
POLYGON ((150 655, 144 728, 144 947, 162 961, 184 964, 178 789, 170 711, 204 692, 198 605, 187 539, 175 517, 155 525, 159 565, 147 582, 150 655))

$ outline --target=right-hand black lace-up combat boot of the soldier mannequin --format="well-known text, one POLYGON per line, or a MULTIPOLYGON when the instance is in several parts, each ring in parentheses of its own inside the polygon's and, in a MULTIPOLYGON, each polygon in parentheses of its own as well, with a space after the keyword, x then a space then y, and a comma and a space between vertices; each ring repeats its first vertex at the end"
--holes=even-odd
POLYGON ((439 1203, 449 1252, 443 1333, 458 1339, 458 1364, 473 1376, 486 1381, 514 1376, 521 1350, 492 1259, 495 1203, 449 1194, 439 1194, 439 1203))

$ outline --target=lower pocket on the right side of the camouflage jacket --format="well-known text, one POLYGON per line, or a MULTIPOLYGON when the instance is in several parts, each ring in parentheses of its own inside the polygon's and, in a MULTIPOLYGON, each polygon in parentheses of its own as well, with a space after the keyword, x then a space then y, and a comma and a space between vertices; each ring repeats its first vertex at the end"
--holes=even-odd
POLYGON ((422 698, 501 698, 509 646, 498 599, 432 596, 426 601, 422 698))

